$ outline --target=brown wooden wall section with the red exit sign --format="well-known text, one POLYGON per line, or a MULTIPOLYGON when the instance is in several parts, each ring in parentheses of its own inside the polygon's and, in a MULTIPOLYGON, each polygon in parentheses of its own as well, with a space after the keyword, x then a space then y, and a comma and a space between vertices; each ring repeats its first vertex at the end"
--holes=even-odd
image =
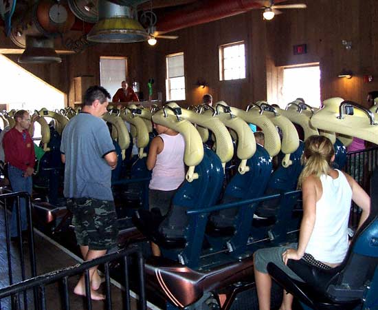
MULTIPOLYGON (((295 3, 296 1, 289 1, 295 3)), ((320 62, 322 100, 340 96, 366 105, 367 93, 378 90, 378 1, 318 0, 306 10, 285 10, 267 23, 269 49, 274 65, 320 62), (342 40, 352 41, 346 50, 342 40), (307 43, 307 54, 294 56, 293 45, 307 43), (353 72, 352 79, 337 77, 342 69, 353 72), (373 75, 364 83, 364 75, 373 75)), ((277 84, 273 74, 268 84, 277 84)), ((268 96, 276 98, 277 90, 268 96)))

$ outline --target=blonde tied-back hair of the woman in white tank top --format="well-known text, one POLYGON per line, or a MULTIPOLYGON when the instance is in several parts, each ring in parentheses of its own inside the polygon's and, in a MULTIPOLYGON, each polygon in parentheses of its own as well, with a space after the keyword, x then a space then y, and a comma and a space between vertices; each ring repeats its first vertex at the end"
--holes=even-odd
POLYGON ((321 176, 328 174, 331 168, 331 159, 335 154, 333 145, 325 136, 309 136, 304 142, 302 165, 304 168, 298 178, 298 189, 301 188, 303 180, 307 176, 321 176))

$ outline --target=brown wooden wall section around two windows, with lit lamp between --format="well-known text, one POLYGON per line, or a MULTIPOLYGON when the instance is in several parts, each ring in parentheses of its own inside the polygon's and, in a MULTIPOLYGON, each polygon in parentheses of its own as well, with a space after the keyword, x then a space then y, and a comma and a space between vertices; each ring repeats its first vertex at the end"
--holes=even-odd
POLYGON ((236 107, 265 98, 265 25, 261 23, 258 12, 197 25, 175 34, 179 35, 179 39, 158 39, 157 45, 148 47, 148 53, 144 55, 155 58, 151 62, 155 70, 144 70, 155 72, 155 89, 162 91, 164 98, 165 57, 177 52, 184 52, 186 76, 186 101, 179 104, 201 103, 203 94, 207 92, 213 95, 214 101, 223 100, 236 107), (236 41, 245 41, 246 79, 219 81, 219 45, 236 41), (205 81, 209 86, 198 87, 195 85, 197 81, 205 81))

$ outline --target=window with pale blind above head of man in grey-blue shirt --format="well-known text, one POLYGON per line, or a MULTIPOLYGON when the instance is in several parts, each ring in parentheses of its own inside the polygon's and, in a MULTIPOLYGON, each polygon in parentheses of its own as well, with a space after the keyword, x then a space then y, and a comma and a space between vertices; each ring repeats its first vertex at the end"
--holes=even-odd
POLYGON ((100 85, 114 96, 127 76, 126 57, 100 57, 100 85))

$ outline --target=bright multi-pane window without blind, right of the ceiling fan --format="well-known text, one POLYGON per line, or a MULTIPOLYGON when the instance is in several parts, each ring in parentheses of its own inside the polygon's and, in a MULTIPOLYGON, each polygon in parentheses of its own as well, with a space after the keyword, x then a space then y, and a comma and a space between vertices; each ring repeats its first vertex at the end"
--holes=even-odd
POLYGON ((220 80, 245 79, 244 42, 236 42, 219 47, 220 80))

